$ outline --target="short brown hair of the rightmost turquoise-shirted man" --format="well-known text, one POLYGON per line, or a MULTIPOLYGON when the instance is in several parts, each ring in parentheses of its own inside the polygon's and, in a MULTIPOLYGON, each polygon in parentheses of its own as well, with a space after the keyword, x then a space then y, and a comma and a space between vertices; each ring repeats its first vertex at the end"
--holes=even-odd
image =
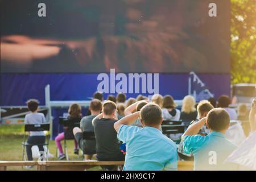
POLYGON ((230 123, 229 113, 222 108, 215 108, 207 114, 207 122, 213 131, 226 130, 230 123))

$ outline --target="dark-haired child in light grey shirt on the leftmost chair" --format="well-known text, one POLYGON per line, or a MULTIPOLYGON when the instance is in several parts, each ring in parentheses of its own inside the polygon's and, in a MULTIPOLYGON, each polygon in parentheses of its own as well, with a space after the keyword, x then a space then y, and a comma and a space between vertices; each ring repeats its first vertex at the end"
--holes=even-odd
MULTIPOLYGON (((40 125, 42 123, 46 123, 46 118, 43 113, 38 113, 38 105, 39 102, 37 100, 28 100, 27 107, 31 113, 26 114, 24 123, 25 125, 40 125)), ((42 144, 46 142, 46 134, 43 131, 30 131, 30 136, 27 139, 27 143, 29 144, 42 144)), ((32 145, 26 146, 27 158, 28 160, 33 160, 32 158, 32 145)), ((44 147, 42 145, 38 145, 39 151, 44 151, 44 147)))

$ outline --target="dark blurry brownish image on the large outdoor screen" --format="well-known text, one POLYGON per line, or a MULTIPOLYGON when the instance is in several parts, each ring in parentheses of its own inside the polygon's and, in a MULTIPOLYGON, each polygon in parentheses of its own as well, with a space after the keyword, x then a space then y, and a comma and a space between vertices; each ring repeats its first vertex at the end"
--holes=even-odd
POLYGON ((1 1, 1 72, 229 72, 229 1, 42 2, 1 1))

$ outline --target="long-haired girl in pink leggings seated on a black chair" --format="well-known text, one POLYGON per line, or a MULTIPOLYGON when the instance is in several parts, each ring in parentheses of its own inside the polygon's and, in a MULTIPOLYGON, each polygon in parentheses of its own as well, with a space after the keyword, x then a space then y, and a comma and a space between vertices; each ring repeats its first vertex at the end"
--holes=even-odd
MULTIPOLYGON (((77 121, 80 121, 82 117, 82 110, 81 110, 81 106, 78 104, 72 104, 71 106, 69 106, 68 109, 68 118, 69 119, 77 119, 77 121)), ((64 140, 66 136, 71 136, 73 135, 73 127, 64 127, 64 132, 60 133, 59 135, 57 135, 57 137, 55 138, 55 143, 56 146, 59 150, 59 160, 65 159, 65 154, 63 152, 63 148, 61 146, 61 140, 64 140)), ((75 150, 74 150, 74 154, 79 154, 79 148, 77 145, 76 140, 74 140, 75 142, 75 150)))

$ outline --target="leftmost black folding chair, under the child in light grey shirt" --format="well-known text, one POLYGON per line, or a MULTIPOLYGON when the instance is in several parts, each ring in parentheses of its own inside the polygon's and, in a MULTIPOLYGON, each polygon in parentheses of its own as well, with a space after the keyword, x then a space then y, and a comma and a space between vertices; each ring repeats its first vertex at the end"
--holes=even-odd
POLYGON ((25 154, 25 148, 26 146, 47 146, 47 151, 46 151, 46 160, 48 160, 48 150, 49 150, 49 129, 50 129, 50 124, 49 123, 44 123, 44 124, 40 124, 40 125, 25 125, 25 129, 24 129, 24 140, 22 142, 22 148, 23 148, 23 154, 22 154, 22 160, 27 160, 26 159, 26 154, 25 154), (47 142, 45 143, 38 143, 38 144, 31 144, 31 143, 27 143, 27 137, 26 137, 26 132, 30 132, 30 131, 48 131, 48 135, 47 137, 47 142))

